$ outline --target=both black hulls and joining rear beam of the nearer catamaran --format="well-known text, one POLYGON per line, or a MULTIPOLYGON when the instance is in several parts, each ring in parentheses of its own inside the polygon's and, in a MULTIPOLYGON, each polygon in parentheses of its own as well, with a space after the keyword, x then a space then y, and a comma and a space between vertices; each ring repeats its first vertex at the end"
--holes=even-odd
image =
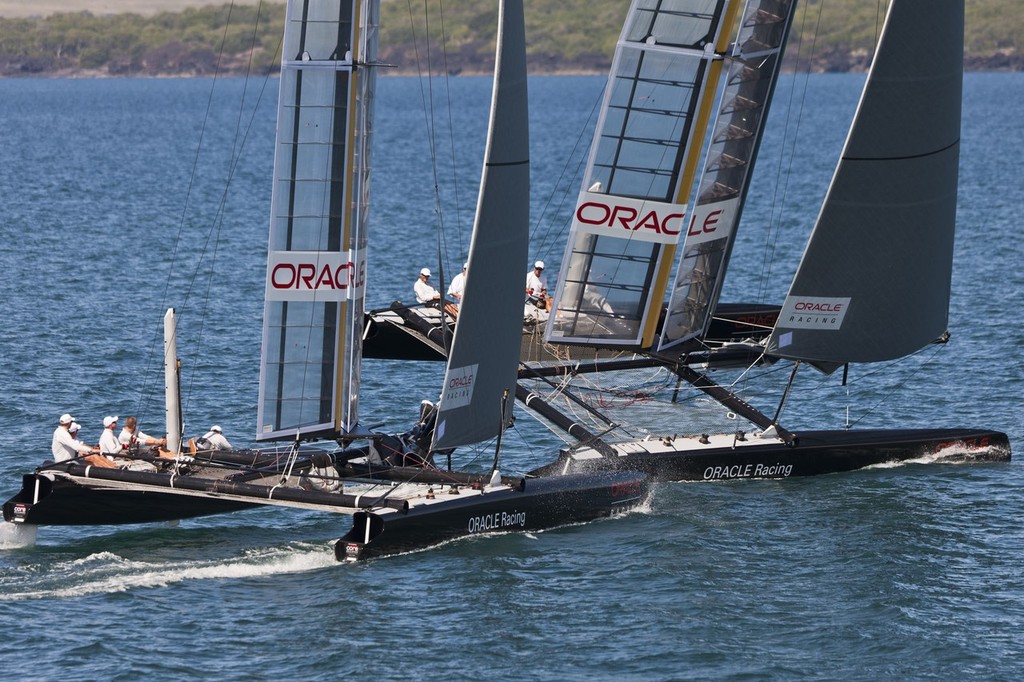
MULTIPOLYGON (((119 525, 208 516, 260 505, 353 514, 336 547, 339 560, 424 549, 485 532, 539 530, 627 511, 648 494, 648 477, 612 471, 544 479, 517 486, 419 483, 429 500, 410 504, 386 494, 352 496, 295 487, 172 477, 168 474, 73 465, 23 477, 3 505, 6 521, 35 525, 119 525), (436 488, 434 491, 433 488, 436 488)), ((387 486, 385 485, 385 488, 387 486)))

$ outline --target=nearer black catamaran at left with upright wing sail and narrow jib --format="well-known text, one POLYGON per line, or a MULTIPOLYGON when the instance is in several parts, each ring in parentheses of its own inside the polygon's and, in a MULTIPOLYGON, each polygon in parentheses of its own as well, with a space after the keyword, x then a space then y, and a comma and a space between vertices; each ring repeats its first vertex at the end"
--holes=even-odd
MULTIPOLYGON (((126 452, 148 471, 79 459, 26 474, 3 505, 20 524, 165 521, 274 505, 348 515, 339 560, 429 547, 463 536, 522 531, 612 515, 641 504, 635 472, 502 476, 502 431, 515 395, 521 278, 528 239, 529 159, 521 0, 499 16, 490 125, 471 266, 444 390, 409 432, 359 421, 369 237, 371 136, 378 61, 376 0, 288 3, 278 106, 257 441, 185 453, 174 311, 165 316, 168 446, 126 452), (515 257, 510 257, 510 254, 515 257), (482 344, 502 330, 508 343, 482 344), (497 439, 483 474, 433 465, 433 453, 497 439)), ((501 336, 501 335, 500 335, 501 336)))

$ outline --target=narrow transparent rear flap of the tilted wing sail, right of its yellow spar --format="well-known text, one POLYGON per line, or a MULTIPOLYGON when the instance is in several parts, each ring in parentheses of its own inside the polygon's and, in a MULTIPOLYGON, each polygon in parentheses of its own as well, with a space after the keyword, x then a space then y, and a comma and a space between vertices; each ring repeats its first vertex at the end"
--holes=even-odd
POLYGON ((796 5, 796 0, 750 0, 743 9, 660 348, 702 337, 711 325, 796 5))

